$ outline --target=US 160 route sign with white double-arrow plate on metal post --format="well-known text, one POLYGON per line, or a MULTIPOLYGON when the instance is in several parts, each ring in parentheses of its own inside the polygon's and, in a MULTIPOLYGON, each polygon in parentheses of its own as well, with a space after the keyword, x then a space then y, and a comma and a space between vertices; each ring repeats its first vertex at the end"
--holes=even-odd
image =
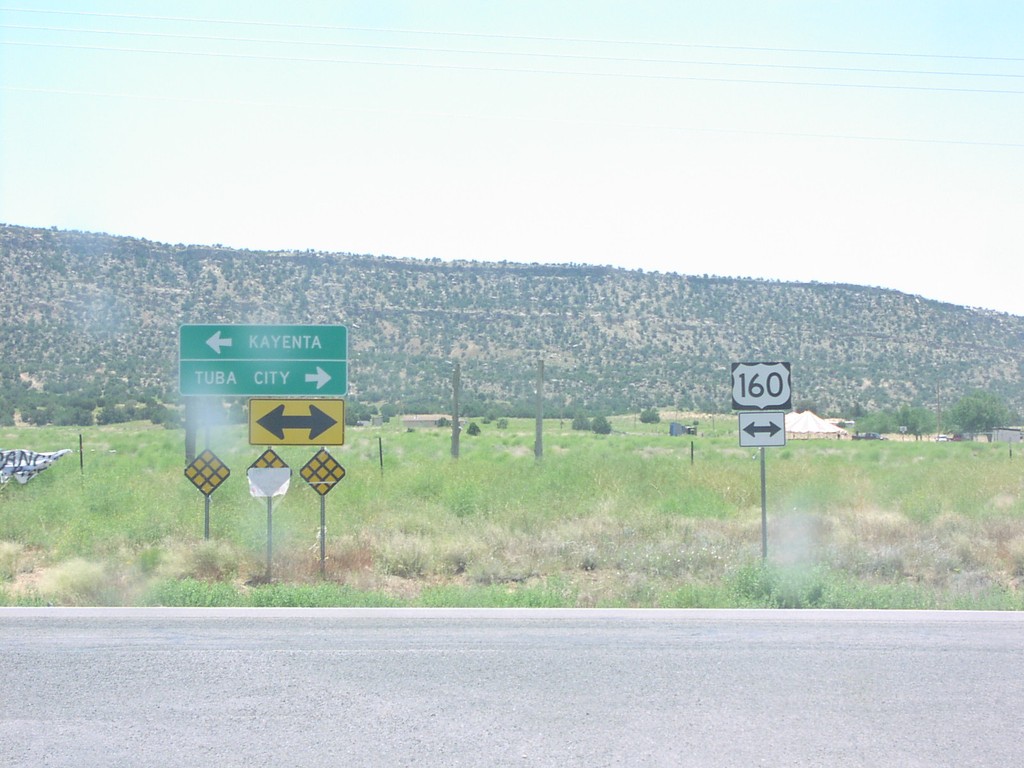
POLYGON ((739 411, 739 444, 761 454, 761 559, 768 559, 765 449, 785 445, 785 412, 793 408, 788 362, 733 362, 732 408, 739 411))

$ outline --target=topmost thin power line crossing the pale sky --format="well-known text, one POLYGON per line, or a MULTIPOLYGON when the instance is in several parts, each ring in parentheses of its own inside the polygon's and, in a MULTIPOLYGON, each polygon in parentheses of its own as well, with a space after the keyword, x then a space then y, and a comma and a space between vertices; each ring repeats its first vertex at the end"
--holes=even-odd
POLYGON ((99 11, 71 11, 71 10, 52 10, 52 9, 39 9, 39 8, 0 7, 0 11, 9 13, 45 13, 45 14, 70 15, 70 16, 124 18, 124 19, 145 20, 145 22, 215 24, 215 25, 231 25, 240 27, 241 26, 275 27, 280 29, 318 30, 318 31, 334 31, 334 32, 371 32, 371 33, 383 32, 388 34, 401 34, 401 35, 430 35, 430 36, 466 37, 466 38, 492 39, 492 40, 523 40, 532 42, 585 43, 585 44, 601 44, 601 45, 647 45, 654 47, 696 48, 696 49, 707 49, 707 50, 761 51, 767 53, 814 53, 814 54, 846 55, 846 56, 891 56, 891 57, 902 57, 902 58, 937 58, 937 59, 973 60, 973 61, 1024 61, 1024 57, 1020 56, 978 56, 978 55, 957 55, 948 53, 910 53, 906 51, 867 51, 867 50, 844 50, 844 49, 829 49, 829 48, 777 48, 777 47, 752 46, 752 45, 713 45, 706 43, 677 43, 677 42, 668 42, 658 40, 614 40, 607 38, 574 38, 574 37, 556 37, 556 36, 545 37, 538 35, 507 35, 507 34, 494 34, 494 33, 480 33, 480 32, 456 32, 456 31, 438 31, 438 30, 407 30, 400 28, 349 27, 349 26, 338 26, 338 25, 298 24, 294 22, 258 22, 253 19, 203 18, 194 16, 163 16, 163 15, 145 15, 137 13, 104 13, 99 11))

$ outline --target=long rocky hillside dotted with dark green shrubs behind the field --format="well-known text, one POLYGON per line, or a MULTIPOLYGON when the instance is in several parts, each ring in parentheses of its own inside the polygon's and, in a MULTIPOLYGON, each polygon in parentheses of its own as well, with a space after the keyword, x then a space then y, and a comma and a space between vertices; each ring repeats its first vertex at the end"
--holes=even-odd
MULTIPOLYGON (((680 258, 685 271, 685 258, 680 258)), ((0 225, 0 420, 146 416, 177 394, 188 323, 342 324, 350 399, 728 411, 729 364, 788 360, 795 404, 854 415, 983 389, 1024 412, 1024 317, 849 285, 579 264, 416 261, 0 225)))

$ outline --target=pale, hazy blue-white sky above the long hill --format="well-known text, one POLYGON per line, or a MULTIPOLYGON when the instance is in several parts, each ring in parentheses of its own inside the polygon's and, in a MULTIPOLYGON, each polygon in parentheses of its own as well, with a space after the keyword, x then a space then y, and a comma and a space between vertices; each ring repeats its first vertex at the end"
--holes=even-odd
POLYGON ((1024 314, 1024 2, 0 0, 0 222, 1024 314))

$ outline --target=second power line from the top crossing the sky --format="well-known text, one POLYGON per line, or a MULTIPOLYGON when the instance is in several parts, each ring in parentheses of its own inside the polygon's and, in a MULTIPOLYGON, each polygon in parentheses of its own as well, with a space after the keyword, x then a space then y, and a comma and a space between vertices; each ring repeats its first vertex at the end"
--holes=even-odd
MULTIPOLYGON (((0 9, 2 10, 2 9, 0 9)), ((498 49, 479 48, 431 48, 425 46, 411 45, 383 45, 378 43, 351 43, 351 42, 330 42, 323 40, 282 40, 272 38, 253 37, 228 37, 224 35, 196 35, 171 32, 133 32, 129 30, 97 30, 82 29, 75 27, 41 27, 30 25, 8 25, 0 24, 0 29, 31 31, 31 32, 59 32, 84 35, 114 35, 119 37, 150 37, 171 40, 196 40, 204 42, 218 43, 258 43, 271 45, 301 45, 313 47, 330 48, 359 48, 370 50, 400 51, 413 53, 454 53, 463 55, 487 55, 507 56, 521 58, 547 58, 557 60, 585 60, 602 61, 615 63, 640 63, 640 65, 671 65, 671 66, 706 66, 706 67, 730 67, 746 69, 765 70, 798 70, 810 72, 851 72, 856 74, 874 75, 924 75, 934 77, 971 77, 971 78, 1024 78, 1024 74, 997 73, 997 72, 949 72, 944 70, 899 70, 893 68, 868 68, 868 67, 838 67, 822 65, 785 65, 764 61, 715 61, 710 59, 674 59, 674 58, 651 58, 640 56, 608 56, 583 53, 550 53, 537 51, 508 51, 498 49)))

